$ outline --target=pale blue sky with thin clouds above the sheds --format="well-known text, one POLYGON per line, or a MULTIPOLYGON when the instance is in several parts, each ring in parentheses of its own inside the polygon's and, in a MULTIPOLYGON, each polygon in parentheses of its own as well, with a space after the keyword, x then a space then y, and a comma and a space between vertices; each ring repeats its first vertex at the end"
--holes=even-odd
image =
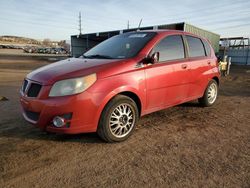
POLYGON ((250 0, 0 0, 0 36, 69 40, 82 33, 187 22, 221 37, 250 37, 250 0))

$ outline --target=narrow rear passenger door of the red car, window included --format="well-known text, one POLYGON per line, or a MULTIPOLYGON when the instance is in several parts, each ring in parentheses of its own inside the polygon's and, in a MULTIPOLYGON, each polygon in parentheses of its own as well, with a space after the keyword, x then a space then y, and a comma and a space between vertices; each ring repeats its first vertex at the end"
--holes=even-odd
MULTIPOLYGON (((190 68, 190 89, 188 98, 195 99, 204 92, 207 83, 208 70, 210 69, 211 59, 206 56, 204 44, 200 38, 186 35, 188 46, 188 66, 190 68)), ((208 52, 207 52, 208 53, 208 52)))

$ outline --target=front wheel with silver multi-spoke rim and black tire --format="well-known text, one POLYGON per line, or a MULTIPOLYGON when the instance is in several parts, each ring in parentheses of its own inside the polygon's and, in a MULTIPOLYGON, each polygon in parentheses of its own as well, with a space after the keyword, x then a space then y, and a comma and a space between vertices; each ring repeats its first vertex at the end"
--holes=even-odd
POLYGON ((115 96, 105 106, 97 134, 106 142, 121 142, 132 134, 139 119, 136 103, 124 95, 115 96))

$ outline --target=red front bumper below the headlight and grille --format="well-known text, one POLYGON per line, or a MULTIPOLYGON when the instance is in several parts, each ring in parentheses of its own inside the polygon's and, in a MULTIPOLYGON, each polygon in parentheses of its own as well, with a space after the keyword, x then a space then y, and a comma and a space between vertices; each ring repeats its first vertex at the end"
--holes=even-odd
POLYGON ((95 132, 97 129, 98 105, 95 103, 95 95, 88 92, 51 98, 30 98, 21 93, 20 103, 25 120, 44 131, 76 134, 95 132), (55 116, 69 113, 72 117, 67 126, 53 126, 55 116))

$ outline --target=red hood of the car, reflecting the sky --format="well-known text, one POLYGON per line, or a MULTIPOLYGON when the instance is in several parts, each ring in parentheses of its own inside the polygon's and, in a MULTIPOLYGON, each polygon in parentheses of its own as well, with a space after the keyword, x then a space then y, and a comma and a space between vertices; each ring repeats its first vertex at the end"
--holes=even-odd
POLYGON ((27 78, 43 85, 50 85, 58 80, 98 73, 122 61, 124 60, 69 58, 38 68, 30 72, 27 78))

